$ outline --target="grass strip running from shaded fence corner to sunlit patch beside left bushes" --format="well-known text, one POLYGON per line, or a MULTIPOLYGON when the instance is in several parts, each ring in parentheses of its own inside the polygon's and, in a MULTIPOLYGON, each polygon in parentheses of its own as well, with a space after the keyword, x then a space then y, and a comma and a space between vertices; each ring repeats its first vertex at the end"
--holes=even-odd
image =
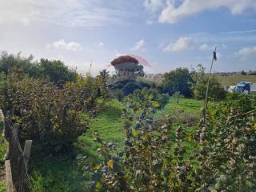
POLYGON ((88 175, 83 175, 80 171, 76 156, 86 156, 90 161, 98 161, 96 152, 98 145, 94 142, 95 131, 98 131, 104 141, 122 146, 123 130, 120 118, 122 107, 123 104, 117 100, 107 102, 97 118, 90 122, 90 130, 78 139, 73 155, 59 158, 32 158, 30 175, 34 191, 88 191, 88 175))

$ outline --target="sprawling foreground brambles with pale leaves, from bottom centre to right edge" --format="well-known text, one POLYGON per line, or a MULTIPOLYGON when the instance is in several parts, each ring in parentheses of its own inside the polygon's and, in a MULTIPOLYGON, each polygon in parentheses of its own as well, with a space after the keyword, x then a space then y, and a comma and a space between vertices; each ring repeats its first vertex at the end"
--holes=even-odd
POLYGON ((128 103, 122 115, 124 149, 117 150, 95 133, 102 162, 87 167, 92 190, 256 190, 255 99, 241 94, 211 105, 198 131, 189 135, 168 118, 155 122, 152 113, 158 105, 150 98, 141 100, 140 109, 128 103), (185 140, 195 146, 194 154, 188 154, 185 140))

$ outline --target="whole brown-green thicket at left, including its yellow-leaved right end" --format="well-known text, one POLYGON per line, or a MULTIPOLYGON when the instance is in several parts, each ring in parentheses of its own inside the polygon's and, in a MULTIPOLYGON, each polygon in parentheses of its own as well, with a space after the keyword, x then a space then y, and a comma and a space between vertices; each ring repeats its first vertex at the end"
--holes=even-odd
POLYGON ((33 139, 45 153, 65 153, 89 128, 87 114, 94 115, 98 100, 106 99, 104 81, 88 75, 60 88, 39 78, 2 74, 0 104, 5 114, 12 111, 13 122, 21 124, 22 140, 33 139))

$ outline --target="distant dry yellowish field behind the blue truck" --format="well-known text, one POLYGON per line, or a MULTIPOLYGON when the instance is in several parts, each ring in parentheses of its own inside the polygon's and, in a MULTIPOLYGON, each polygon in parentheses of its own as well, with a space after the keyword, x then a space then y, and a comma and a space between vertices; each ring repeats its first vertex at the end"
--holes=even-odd
POLYGON ((232 86, 242 81, 256 83, 256 75, 241 75, 241 74, 230 75, 230 76, 218 75, 218 81, 222 84, 222 86, 232 86))

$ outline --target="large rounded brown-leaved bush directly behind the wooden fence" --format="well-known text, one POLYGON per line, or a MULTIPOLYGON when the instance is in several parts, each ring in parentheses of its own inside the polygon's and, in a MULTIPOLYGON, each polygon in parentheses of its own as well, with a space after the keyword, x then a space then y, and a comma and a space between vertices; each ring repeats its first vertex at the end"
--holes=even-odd
POLYGON ((21 139, 34 140, 42 152, 67 152, 88 128, 79 98, 70 95, 71 89, 58 89, 50 82, 10 74, 1 92, 1 108, 13 111, 12 120, 21 124, 21 139))

